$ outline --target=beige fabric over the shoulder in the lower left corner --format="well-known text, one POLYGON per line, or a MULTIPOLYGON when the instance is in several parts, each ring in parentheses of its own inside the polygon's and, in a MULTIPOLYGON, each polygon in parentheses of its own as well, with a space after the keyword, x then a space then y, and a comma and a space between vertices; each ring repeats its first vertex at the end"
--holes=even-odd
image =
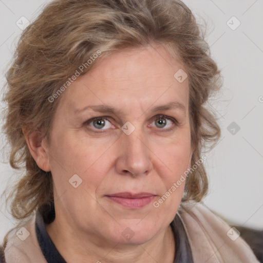
MULTIPOLYGON (((2 258, 5 263, 33 263, 35 258, 39 263, 46 263, 35 233, 35 216, 21 222, 12 229, 5 238, 2 258)), ((1 262, 1 261, 0 261, 1 262)))

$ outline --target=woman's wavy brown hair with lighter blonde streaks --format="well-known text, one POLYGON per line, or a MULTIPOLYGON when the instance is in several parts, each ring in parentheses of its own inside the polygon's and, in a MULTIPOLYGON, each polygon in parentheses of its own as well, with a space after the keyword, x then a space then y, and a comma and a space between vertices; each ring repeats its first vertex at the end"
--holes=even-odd
MULTIPOLYGON (((51 172, 32 158, 22 129, 39 129, 49 139, 60 98, 54 95, 76 69, 98 50, 101 57, 129 48, 162 45, 179 58, 189 78, 191 164, 204 147, 220 137, 215 115, 205 102, 220 86, 220 71, 211 59, 204 33, 189 8, 178 0, 56 0, 23 31, 6 73, 4 132, 11 145, 9 161, 24 175, 8 200, 15 219, 53 205, 51 172)), ((94 61, 82 74, 96 65, 94 61)), ((183 200, 200 201, 208 190, 203 164, 189 174, 183 200)))

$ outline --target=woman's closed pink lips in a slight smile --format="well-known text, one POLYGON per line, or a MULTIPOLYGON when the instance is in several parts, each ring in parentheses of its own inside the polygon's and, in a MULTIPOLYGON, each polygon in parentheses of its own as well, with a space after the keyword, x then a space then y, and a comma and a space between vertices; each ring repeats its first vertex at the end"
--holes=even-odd
POLYGON ((106 197, 115 203, 118 203, 125 208, 138 209, 151 203, 155 199, 156 195, 151 193, 117 193, 112 195, 106 195, 106 197))

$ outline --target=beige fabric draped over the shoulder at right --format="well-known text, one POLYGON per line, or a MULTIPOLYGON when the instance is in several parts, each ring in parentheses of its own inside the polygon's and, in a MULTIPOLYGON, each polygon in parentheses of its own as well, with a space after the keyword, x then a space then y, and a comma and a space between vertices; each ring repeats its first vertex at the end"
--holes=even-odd
POLYGON ((203 203, 183 203, 178 214, 184 224, 195 261, 259 262, 249 245, 239 236, 240 233, 203 203))

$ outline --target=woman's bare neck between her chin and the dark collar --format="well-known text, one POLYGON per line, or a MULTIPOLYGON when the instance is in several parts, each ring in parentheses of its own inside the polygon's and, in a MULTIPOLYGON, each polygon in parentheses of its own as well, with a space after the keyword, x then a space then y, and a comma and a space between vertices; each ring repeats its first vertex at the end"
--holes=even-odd
POLYGON ((98 237, 93 238, 83 231, 69 231, 70 226, 61 224, 57 218, 46 224, 46 229, 55 247, 67 262, 174 262, 175 240, 171 226, 141 245, 114 243, 102 240, 101 237, 98 242, 98 237))

